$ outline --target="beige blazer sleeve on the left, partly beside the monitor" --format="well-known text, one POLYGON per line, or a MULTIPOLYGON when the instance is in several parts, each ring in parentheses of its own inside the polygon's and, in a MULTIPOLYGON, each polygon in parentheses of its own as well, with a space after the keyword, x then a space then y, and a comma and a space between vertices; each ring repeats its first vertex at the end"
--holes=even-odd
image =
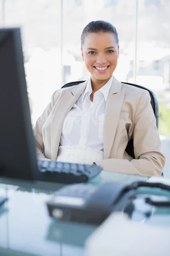
POLYGON ((47 160, 47 158, 45 158, 45 156, 43 154, 43 152, 44 152, 44 143, 43 143, 43 139, 42 139, 42 126, 44 125, 44 123, 47 120, 49 114, 51 113, 52 108, 54 107, 54 95, 55 95, 55 93, 56 92, 54 92, 52 94, 51 102, 45 108, 42 115, 37 119, 37 122, 36 122, 35 128, 34 128, 34 136, 35 136, 37 157, 38 158, 43 158, 44 160, 47 160))

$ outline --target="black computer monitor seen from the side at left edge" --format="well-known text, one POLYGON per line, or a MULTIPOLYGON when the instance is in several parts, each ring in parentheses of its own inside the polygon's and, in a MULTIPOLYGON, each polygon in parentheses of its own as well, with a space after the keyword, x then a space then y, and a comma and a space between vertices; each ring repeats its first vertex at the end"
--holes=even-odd
POLYGON ((34 180, 36 174, 20 29, 0 29, 0 177, 34 180))

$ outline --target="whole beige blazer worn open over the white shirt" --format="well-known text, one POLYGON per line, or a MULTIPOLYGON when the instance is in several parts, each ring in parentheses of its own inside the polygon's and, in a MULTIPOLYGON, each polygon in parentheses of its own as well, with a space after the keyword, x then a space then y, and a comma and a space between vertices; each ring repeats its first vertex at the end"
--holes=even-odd
MULTIPOLYGON (((53 93, 34 128, 39 158, 57 159, 65 116, 86 85, 87 81, 53 93)), ((159 176, 164 163, 149 93, 113 77, 105 110, 104 160, 96 164, 109 172, 159 176), (132 137, 136 159, 125 151, 132 137)))

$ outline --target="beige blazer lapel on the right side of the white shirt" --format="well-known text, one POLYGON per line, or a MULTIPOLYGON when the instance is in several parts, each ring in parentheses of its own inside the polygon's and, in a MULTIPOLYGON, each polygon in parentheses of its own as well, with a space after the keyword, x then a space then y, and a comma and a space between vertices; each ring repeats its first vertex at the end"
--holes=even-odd
POLYGON ((121 90, 122 83, 113 76, 111 89, 108 94, 105 110, 104 124, 104 158, 108 159, 111 154, 111 148, 119 122, 120 111, 124 99, 124 90, 121 90))

